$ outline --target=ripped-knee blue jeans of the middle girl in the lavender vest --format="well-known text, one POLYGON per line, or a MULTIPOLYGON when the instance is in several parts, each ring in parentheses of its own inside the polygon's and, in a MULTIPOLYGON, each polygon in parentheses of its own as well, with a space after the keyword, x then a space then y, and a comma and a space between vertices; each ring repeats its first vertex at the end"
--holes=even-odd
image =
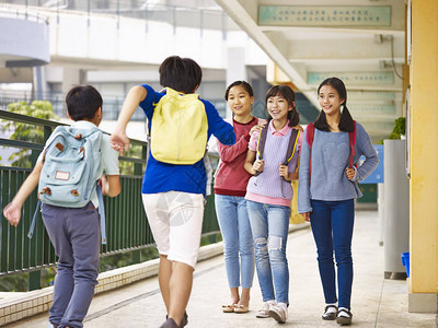
POLYGON ((289 304, 286 244, 290 208, 246 200, 254 237, 255 267, 263 301, 289 304), (275 292, 274 292, 275 288, 275 292))

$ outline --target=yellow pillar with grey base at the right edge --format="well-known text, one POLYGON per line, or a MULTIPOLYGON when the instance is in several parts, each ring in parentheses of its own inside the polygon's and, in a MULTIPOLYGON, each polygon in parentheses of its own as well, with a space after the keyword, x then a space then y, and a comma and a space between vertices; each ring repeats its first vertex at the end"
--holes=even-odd
POLYGON ((438 1, 412 0, 410 312, 437 312, 438 1))

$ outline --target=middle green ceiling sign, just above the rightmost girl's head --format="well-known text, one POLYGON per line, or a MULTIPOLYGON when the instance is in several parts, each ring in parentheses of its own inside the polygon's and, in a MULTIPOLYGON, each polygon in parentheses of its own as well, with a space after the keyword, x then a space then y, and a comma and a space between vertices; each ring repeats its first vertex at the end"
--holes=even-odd
POLYGON ((394 84, 393 72, 309 72, 308 84, 319 85, 327 78, 336 77, 344 81, 346 86, 354 85, 369 85, 369 84, 394 84))

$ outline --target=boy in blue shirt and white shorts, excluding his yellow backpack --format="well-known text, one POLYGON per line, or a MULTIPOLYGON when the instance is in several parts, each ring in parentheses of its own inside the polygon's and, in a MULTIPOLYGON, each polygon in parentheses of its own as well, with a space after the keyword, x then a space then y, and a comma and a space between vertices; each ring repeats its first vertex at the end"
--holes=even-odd
MULTIPOLYGON (((203 77, 200 67, 194 60, 177 56, 166 58, 159 72, 160 84, 182 95, 195 93, 203 77)), ((129 91, 111 137, 114 149, 120 152, 128 149, 126 126, 138 106, 143 109, 151 130, 155 106, 164 94, 147 84, 129 91)), ((207 115, 208 137, 212 133, 223 144, 234 143, 232 126, 219 116, 214 105, 199 101, 207 115)), ((187 324, 185 307, 199 250, 206 181, 204 160, 192 165, 177 165, 160 162, 149 153, 141 192, 160 253, 158 278, 168 309, 168 319, 162 328, 184 327, 187 324)))

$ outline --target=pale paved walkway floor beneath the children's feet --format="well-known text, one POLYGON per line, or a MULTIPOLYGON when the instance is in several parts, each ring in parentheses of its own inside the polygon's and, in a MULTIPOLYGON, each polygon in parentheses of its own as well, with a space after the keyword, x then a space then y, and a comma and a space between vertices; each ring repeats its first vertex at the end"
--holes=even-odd
MULTIPOLYGON (((406 282, 383 279, 383 247, 377 235, 377 212, 358 211, 354 234, 353 256, 355 280, 351 312, 354 327, 437 327, 435 314, 407 313, 406 282)), ((313 237, 309 229, 289 234, 290 269, 289 319, 281 327, 337 327, 323 321, 322 288, 318 273, 313 237)), ((223 257, 217 256, 198 263, 193 293, 187 307, 187 327, 279 327, 272 318, 257 319, 262 306, 256 277, 247 314, 224 314, 221 305, 229 301, 223 257)), ((157 278, 147 279, 108 293, 92 302, 85 328, 159 327, 165 316, 157 278)), ((47 327, 47 314, 7 326, 47 327)))

